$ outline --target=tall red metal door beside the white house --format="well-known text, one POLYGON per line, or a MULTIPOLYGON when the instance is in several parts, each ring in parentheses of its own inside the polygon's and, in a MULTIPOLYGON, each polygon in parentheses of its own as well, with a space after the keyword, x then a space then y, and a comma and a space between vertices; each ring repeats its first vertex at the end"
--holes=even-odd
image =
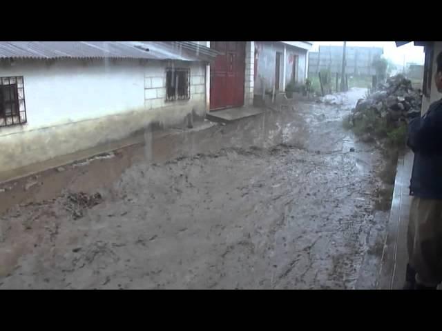
POLYGON ((220 52, 210 70, 210 109, 244 105, 244 41, 211 41, 210 46, 220 52))

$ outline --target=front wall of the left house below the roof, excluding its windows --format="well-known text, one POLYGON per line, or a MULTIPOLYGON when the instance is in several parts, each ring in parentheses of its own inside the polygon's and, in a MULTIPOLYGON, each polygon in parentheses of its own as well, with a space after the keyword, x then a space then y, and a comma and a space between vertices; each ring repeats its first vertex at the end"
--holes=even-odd
POLYGON ((165 101, 164 61, 57 60, 0 63, 23 76, 28 123, 0 128, 0 172, 45 161, 206 111, 205 64, 191 68, 191 100, 165 101))

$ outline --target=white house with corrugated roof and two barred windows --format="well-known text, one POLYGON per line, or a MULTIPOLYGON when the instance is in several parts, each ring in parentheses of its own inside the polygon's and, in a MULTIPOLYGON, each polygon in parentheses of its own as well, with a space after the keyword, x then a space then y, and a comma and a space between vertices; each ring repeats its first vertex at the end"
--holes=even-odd
POLYGON ((206 114, 190 42, 0 42, 0 172, 206 114))

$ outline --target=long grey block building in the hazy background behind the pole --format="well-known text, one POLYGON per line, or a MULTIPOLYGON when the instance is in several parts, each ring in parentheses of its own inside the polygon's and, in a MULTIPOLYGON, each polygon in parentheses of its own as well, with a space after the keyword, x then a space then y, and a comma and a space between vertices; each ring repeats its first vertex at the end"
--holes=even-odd
MULTIPOLYGON (((347 47, 345 49, 345 72, 355 76, 372 76, 376 70, 372 64, 383 55, 383 48, 347 47)), ((318 52, 309 52, 309 76, 320 70, 340 73, 343 65, 343 46, 319 46, 318 52)))

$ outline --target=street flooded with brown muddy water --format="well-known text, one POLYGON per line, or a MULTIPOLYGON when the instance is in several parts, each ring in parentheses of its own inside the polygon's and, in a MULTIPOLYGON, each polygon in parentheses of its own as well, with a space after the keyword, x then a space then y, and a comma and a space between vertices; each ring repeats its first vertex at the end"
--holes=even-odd
POLYGON ((341 124, 364 92, 48 174, 0 217, 0 289, 374 288, 381 155, 341 124))

